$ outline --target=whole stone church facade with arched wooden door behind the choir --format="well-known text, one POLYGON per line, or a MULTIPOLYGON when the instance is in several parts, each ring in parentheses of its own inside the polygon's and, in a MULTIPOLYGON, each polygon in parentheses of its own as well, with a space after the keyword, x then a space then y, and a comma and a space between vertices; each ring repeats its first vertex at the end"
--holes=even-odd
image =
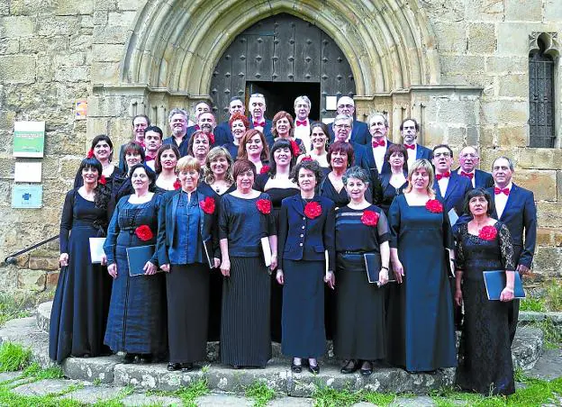
MULTIPOLYGON (((316 86, 322 118, 326 96, 352 94, 359 120, 387 113, 393 140, 414 117, 421 143, 479 145, 485 170, 513 158, 538 205, 535 272, 559 277, 561 37, 559 0, 0 0, 0 255, 58 233, 95 135, 118 148, 134 114, 168 132, 174 107, 222 115, 227 96, 294 83, 316 86), (11 207, 15 121, 46 122, 41 209, 11 207)), ((56 281, 56 249, 0 267, 3 289, 56 281)))

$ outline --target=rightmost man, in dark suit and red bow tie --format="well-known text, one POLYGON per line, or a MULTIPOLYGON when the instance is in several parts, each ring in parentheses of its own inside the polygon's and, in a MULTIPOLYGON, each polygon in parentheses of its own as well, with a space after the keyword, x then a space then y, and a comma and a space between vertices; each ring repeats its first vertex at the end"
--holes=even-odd
MULTIPOLYGON (((492 217, 505 223, 513 240, 513 261, 524 276, 530 272, 537 242, 537 207, 532 191, 512 182, 513 163, 510 158, 495 158, 492 164, 494 186, 487 189, 494 201, 492 217)), ((519 317, 519 300, 513 300, 508 315, 510 338, 513 341, 519 317)))

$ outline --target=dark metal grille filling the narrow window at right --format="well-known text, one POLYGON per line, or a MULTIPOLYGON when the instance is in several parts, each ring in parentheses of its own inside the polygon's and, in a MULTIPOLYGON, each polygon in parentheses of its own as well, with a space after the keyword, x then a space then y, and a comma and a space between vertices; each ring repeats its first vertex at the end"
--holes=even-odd
POLYGON ((554 60, 545 54, 545 43, 529 55, 529 127, 530 147, 553 148, 554 133, 554 60))

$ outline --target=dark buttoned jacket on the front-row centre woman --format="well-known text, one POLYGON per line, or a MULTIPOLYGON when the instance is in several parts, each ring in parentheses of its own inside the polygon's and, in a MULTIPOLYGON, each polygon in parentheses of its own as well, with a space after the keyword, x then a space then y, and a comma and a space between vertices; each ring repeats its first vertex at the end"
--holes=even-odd
POLYGON ((301 194, 289 196, 281 203, 277 239, 278 267, 281 269, 284 259, 323 260, 324 250, 328 250, 328 269, 335 269, 335 204, 318 194, 312 202, 322 206, 322 214, 314 219, 304 214, 301 194))

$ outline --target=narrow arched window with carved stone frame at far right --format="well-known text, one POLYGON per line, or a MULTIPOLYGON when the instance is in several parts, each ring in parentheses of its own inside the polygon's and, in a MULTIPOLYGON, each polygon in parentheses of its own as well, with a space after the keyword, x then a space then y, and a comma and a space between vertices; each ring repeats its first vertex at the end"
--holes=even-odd
POLYGON ((529 129, 530 147, 554 148, 556 143, 556 32, 530 34, 529 129))

